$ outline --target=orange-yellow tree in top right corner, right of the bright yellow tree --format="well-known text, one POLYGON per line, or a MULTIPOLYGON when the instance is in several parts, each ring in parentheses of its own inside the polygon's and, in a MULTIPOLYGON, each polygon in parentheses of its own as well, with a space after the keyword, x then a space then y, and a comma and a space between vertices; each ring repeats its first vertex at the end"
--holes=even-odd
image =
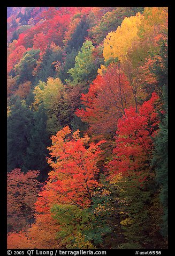
POLYGON ((144 8, 138 37, 128 53, 134 67, 142 65, 149 56, 158 58, 163 41, 168 39, 168 8, 144 8))

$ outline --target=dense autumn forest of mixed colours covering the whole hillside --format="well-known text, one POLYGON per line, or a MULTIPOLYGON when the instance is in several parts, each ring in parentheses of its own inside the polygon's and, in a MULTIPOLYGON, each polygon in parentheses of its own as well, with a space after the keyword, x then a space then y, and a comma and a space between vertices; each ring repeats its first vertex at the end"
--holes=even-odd
POLYGON ((7 247, 168 248, 168 8, 7 8, 7 247))

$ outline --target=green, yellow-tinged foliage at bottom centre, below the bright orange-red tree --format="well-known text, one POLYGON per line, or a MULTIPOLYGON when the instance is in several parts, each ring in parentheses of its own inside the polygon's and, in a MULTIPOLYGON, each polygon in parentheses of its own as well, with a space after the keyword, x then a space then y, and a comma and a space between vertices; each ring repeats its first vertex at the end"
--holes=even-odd
POLYGON ((108 236, 113 230, 110 207, 111 197, 105 185, 94 191, 89 208, 55 204, 51 213, 60 225, 60 231, 57 233, 60 246, 87 249, 110 247, 112 242, 108 236))

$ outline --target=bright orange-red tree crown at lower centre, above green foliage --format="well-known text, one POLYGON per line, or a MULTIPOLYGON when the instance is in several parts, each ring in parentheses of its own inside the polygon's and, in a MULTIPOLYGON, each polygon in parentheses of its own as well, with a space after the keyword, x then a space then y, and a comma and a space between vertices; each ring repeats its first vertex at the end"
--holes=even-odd
POLYGON ((66 126, 51 137, 52 145, 48 147, 51 158, 48 163, 53 170, 49 173, 47 187, 53 192, 57 191, 56 201, 82 208, 90 204, 93 189, 98 186, 95 179, 99 172, 96 163, 101 153, 99 146, 104 141, 92 143, 86 148, 88 136, 80 138, 78 130, 70 138, 70 133, 69 126, 66 126))

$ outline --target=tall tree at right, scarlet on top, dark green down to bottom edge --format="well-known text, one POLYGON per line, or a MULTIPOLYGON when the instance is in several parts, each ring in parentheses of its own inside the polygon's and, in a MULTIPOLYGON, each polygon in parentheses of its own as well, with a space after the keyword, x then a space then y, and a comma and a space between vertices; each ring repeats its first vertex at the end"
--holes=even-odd
POLYGON ((116 148, 107 165, 124 236, 118 248, 166 247, 160 233, 162 209, 151 166, 159 127, 158 101, 153 93, 138 112, 126 109, 118 120, 116 148))

